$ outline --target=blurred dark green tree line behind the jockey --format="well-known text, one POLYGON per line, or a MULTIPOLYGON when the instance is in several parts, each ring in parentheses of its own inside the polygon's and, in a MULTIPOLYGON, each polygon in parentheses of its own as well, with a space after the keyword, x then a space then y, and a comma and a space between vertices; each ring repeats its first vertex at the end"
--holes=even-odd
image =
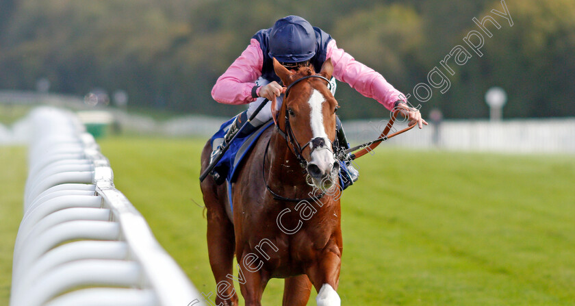
MULTIPOLYGON (((243 108, 213 101, 214 82, 255 31, 297 14, 406 94, 442 69, 450 88, 433 88, 425 116, 439 107, 486 118, 491 86, 507 90, 507 118, 575 116, 575 0, 505 3, 513 27, 491 12, 504 12, 493 0, 2 0, 0 88, 33 90, 47 78, 53 92, 126 90, 129 107, 231 116, 243 108), (487 14, 501 27, 485 24, 493 36, 483 35, 480 58, 463 38, 487 14), (440 61, 457 45, 472 57, 451 62, 452 75, 440 61)), ((337 99, 343 118, 385 115, 345 84, 337 99)))

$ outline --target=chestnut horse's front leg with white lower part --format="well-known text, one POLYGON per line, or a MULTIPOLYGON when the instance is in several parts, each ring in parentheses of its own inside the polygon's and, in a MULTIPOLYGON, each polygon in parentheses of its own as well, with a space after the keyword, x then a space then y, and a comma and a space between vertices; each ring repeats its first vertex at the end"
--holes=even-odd
POLYGON ((309 280, 318 292, 318 306, 340 306, 342 301, 337 295, 337 285, 340 283, 340 268, 342 254, 335 246, 327 246, 322 251, 318 262, 312 264, 307 272, 309 280))

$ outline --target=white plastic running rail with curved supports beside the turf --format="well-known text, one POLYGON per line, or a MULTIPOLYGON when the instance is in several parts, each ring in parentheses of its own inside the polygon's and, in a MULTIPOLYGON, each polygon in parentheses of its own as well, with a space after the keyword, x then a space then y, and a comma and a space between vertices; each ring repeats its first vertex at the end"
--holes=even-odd
POLYGON ((41 107, 32 122, 11 306, 204 305, 77 117, 41 107))

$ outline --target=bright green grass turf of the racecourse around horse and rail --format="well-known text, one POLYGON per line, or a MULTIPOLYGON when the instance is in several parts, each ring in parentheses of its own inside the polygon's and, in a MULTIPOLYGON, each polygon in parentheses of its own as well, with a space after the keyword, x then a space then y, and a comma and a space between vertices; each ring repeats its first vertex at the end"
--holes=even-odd
MULTIPOLYGON (((99 143, 116 188, 148 220, 159 243, 200 291, 215 291, 197 179, 203 141, 99 143)), ((385 145, 374 153, 359 160, 360 179, 342 198, 337 291, 343 305, 575 304, 575 157, 385 145)), ((18 216, 0 216, 0 305, 8 301, 5 271, 14 220, 21 216, 19 173, 25 170, 13 160, 24 160, 22 154, 10 149, 0 155, 3 167, 20 171, 17 181, 2 171, 2 182, 12 184, 3 188, 3 212, 18 216)), ((262 303, 279 305, 282 288, 283 281, 272 280, 262 303)), ((316 305, 314 296, 309 305, 316 305)))

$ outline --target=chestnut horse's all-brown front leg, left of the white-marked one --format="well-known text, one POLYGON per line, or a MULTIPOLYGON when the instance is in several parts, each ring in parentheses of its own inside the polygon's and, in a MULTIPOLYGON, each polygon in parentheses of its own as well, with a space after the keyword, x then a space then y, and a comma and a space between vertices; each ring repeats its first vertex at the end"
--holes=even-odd
POLYGON ((238 279, 240 281, 240 291, 246 306, 261 306, 261 296, 270 278, 268 273, 257 266, 258 262, 253 262, 253 253, 244 253, 238 257, 238 279), (248 256, 246 258, 246 256, 248 256), (246 266, 246 264, 251 266, 246 266))

